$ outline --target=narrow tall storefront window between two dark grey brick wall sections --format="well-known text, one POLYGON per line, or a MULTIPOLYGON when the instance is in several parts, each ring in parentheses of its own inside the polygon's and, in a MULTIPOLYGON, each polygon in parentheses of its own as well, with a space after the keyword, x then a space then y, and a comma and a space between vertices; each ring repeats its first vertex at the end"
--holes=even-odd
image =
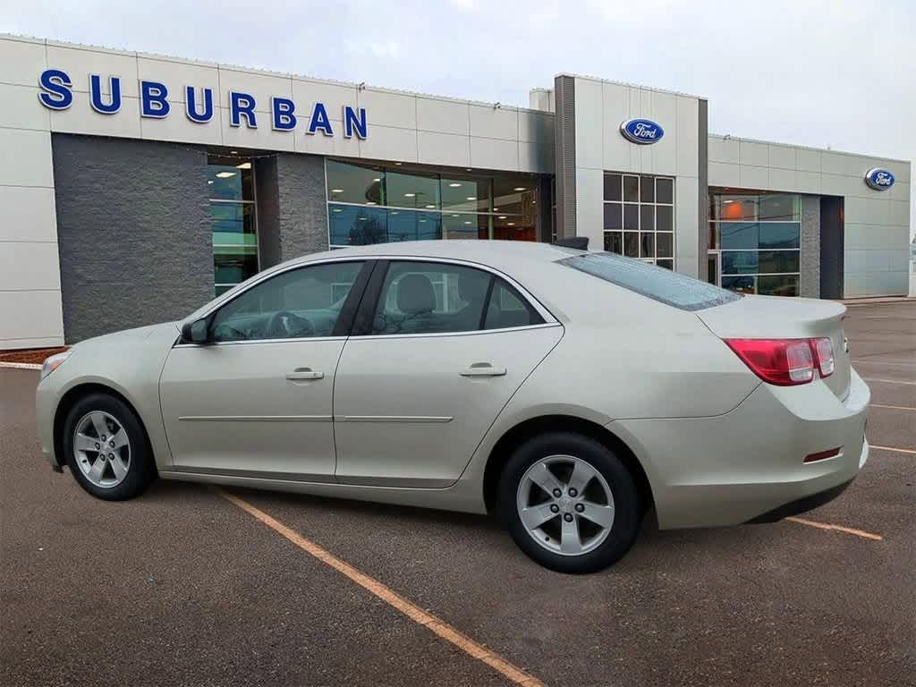
POLYGON ((213 233, 213 284, 219 296, 259 268, 251 160, 210 156, 207 190, 213 233))

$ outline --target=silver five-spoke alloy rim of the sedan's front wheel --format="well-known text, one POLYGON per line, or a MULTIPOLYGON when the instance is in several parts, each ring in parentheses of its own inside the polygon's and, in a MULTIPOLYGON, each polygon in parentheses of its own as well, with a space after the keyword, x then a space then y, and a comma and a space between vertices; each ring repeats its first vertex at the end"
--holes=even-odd
POLYGON ((130 440, 124 426, 103 410, 86 413, 73 431, 73 457, 93 485, 120 485, 130 470, 130 440))

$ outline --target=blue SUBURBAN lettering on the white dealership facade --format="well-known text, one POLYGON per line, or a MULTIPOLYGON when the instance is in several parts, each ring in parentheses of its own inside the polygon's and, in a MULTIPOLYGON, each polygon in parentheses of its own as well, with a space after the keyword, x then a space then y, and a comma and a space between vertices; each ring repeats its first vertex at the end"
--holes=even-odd
MULTIPOLYGON (((38 100, 50 110, 66 110, 73 104, 73 82, 66 71, 49 69, 38 77, 38 100)), ((172 103, 169 101, 169 88, 164 83, 141 80, 139 85, 140 116, 152 119, 163 119, 171 114, 172 103)), ((213 119, 213 89, 184 88, 184 114, 194 124, 209 124, 213 119)), ((121 78, 109 76, 103 84, 98 74, 89 76, 89 104, 99 114, 115 114, 121 109, 121 78), (103 88, 103 85, 106 88, 103 88), (107 94, 106 94, 107 93, 107 94)), ((306 134, 321 132, 324 136, 333 136, 331 115, 323 103, 311 104, 308 114, 297 111, 296 104, 289 98, 273 96, 270 98, 269 114, 255 112, 255 96, 240 91, 230 91, 227 103, 229 125, 245 126, 256 129, 259 120, 269 119, 275 131, 293 131, 300 122, 306 134)), ((339 119, 343 122, 344 138, 365 138, 368 136, 365 107, 344 105, 339 119)), ((263 123, 263 122, 261 122, 263 123)))

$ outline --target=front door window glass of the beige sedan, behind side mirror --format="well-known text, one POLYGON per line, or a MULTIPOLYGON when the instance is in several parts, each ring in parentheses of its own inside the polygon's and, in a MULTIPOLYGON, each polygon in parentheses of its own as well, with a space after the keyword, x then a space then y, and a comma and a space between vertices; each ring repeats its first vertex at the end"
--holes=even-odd
POLYGON ((268 278, 213 316, 216 342, 332 336, 363 262, 300 267, 268 278))

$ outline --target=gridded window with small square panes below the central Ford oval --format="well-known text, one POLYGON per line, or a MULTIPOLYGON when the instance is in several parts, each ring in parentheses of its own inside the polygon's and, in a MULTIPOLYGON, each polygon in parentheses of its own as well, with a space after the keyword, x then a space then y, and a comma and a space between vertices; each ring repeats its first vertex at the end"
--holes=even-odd
POLYGON ((674 256, 674 180, 605 172, 605 251, 646 262, 674 256))

